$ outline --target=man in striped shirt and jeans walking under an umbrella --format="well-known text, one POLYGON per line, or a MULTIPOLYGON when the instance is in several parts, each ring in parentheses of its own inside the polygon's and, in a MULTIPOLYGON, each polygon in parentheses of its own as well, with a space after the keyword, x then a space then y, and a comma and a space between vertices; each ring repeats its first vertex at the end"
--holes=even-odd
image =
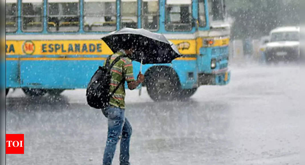
MULTIPOLYGON (((110 59, 113 60, 122 55, 127 57, 119 60, 111 69, 110 92, 114 91, 120 81, 125 79, 128 88, 133 90, 144 81, 144 75, 139 73, 137 81, 133 76, 133 66, 129 57, 133 53, 131 43, 126 43, 122 50, 114 53, 110 59), (128 57, 129 56, 129 57, 128 57)), ((124 83, 125 84, 125 83, 124 83)), ((110 98, 109 107, 103 109, 103 114, 108 118, 108 136, 103 157, 103 165, 111 165, 116 150, 116 145, 120 141, 120 165, 129 165, 129 143, 132 133, 131 125, 125 118, 125 88, 122 84, 113 97, 110 98)))

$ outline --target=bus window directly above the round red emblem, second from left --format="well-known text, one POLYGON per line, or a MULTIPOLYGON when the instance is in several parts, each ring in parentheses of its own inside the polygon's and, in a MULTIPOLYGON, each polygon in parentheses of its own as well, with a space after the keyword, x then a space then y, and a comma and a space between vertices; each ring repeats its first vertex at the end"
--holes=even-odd
POLYGON ((43 0, 22 0, 21 27, 25 32, 42 31, 43 0))

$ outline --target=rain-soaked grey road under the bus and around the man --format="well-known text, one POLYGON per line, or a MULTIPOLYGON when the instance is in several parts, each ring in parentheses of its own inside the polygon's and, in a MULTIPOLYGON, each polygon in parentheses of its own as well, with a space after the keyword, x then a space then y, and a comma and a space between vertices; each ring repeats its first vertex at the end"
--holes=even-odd
MULTIPOLYGON (((146 89, 141 97, 127 91, 131 164, 301 164, 299 67, 231 71, 228 86, 202 86, 189 101, 155 103, 146 89)), ((11 90, 6 133, 24 133, 25 154, 6 155, 6 163, 101 164, 107 122, 84 95, 78 89, 30 99, 11 90)))

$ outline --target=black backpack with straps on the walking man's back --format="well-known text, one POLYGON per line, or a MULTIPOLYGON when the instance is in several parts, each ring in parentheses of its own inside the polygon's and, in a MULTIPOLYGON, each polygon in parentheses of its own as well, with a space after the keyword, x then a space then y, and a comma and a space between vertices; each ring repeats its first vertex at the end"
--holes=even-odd
POLYGON ((110 90, 110 81, 111 81, 111 68, 115 63, 117 63, 120 59, 127 57, 126 55, 121 55, 113 60, 112 64, 109 66, 109 61, 111 55, 107 58, 105 66, 99 66, 99 69, 95 71, 91 80, 87 86, 86 97, 88 105, 97 108, 104 109, 109 105, 110 98, 117 91, 121 84, 125 82, 125 78, 123 78, 120 84, 114 89, 114 91, 109 94, 110 90))

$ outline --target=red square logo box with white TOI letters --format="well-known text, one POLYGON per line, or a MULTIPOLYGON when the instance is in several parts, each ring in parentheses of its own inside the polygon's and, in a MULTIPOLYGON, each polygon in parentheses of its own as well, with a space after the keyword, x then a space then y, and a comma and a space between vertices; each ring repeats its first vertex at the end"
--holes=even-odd
POLYGON ((24 154, 24 134, 5 134, 5 154, 24 154))

